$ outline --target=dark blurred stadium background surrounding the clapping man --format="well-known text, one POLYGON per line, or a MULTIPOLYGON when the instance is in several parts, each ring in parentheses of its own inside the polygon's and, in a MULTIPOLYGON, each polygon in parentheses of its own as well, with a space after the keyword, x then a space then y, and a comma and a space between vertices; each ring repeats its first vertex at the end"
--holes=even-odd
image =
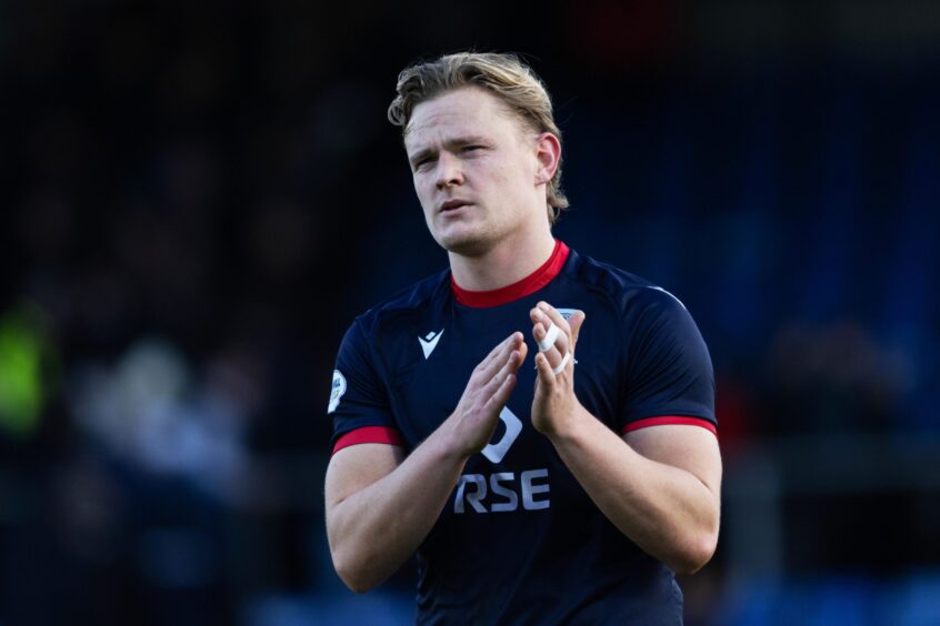
POLYGON ((716 364, 687 623, 940 624, 940 6, 0 2, 0 625, 412 619, 329 563, 353 316, 446 266, 400 69, 547 81, 557 235, 716 364))

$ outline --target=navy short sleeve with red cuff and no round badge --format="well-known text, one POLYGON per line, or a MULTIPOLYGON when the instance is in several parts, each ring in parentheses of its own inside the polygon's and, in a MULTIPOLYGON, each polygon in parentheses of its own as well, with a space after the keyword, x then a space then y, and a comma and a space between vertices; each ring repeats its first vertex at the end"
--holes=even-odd
POLYGON ((624 314, 627 363, 621 432, 664 423, 716 432, 714 372, 686 306, 648 287, 624 314))

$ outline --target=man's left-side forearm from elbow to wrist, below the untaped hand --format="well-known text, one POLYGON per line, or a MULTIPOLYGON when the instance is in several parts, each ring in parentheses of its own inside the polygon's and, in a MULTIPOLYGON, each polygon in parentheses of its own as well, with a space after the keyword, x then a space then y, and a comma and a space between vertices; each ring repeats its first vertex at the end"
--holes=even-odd
POLYGON ((356 592, 383 583, 433 527, 467 462, 449 444, 448 423, 374 483, 328 503, 337 572, 356 592))

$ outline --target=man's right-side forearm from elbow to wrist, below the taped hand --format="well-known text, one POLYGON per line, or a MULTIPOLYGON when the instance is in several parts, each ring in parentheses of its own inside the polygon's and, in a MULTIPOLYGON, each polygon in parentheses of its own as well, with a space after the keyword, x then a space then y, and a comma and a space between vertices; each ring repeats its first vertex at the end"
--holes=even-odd
POLYGON ((676 572, 699 569, 718 538, 718 493, 691 472, 638 453, 583 408, 579 413, 550 438, 594 504, 676 572))

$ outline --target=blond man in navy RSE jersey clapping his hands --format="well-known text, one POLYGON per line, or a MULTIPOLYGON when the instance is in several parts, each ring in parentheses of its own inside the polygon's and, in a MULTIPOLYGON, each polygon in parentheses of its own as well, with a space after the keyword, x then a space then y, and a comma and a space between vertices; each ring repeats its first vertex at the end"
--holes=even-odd
POLYGON ((450 270, 343 339, 337 572, 364 592, 417 554, 419 623, 680 624, 673 572, 711 558, 721 481, 694 323, 553 239, 560 133, 517 58, 408 68, 389 119, 450 270))

